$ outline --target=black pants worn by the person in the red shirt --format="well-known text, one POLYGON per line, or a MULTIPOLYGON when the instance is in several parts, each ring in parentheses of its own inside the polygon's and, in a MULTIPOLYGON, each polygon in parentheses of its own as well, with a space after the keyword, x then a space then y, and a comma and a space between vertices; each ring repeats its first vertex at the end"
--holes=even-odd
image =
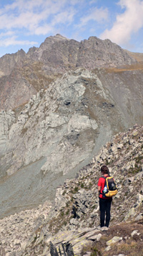
POLYGON ((100 227, 104 227, 104 226, 109 227, 111 204, 112 204, 112 198, 108 198, 108 199, 99 198, 100 227), (105 221, 105 214, 106 214, 106 221, 105 221))

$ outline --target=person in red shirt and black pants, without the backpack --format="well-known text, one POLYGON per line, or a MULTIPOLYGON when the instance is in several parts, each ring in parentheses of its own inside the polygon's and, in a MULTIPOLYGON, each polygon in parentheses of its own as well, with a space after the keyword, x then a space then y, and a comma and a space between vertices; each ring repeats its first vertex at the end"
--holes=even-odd
MULTIPOLYGON (((109 176, 109 169, 107 168, 106 165, 102 166, 101 172, 103 177, 106 178, 107 176, 109 176)), ((112 196, 111 197, 104 196, 103 190, 104 190, 105 178, 103 177, 99 178, 99 181, 98 181, 100 227, 102 229, 107 229, 109 227, 109 221, 110 221, 110 209, 112 204, 112 196), (106 219, 105 219, 105 214, 106 214, 106 219)))

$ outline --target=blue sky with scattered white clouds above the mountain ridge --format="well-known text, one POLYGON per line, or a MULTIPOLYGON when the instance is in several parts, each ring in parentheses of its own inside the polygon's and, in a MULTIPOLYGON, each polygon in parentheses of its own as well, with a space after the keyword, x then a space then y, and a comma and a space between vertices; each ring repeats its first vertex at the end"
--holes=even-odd
POLYGON ((143 52, 143 0, 0 0, 0 57, 56 34, 143 52))

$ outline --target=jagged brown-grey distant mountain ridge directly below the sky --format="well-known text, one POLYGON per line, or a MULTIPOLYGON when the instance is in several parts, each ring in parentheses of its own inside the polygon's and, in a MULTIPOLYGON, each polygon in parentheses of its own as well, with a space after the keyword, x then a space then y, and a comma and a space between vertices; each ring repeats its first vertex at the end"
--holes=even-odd
POLYGON ((62 35, 47 37, 40 47, 0 58, 0 109, 25 104, 41 88, 74 68, 113 68, 137 63, 110 40, 89 37, 77 42, 62 35))

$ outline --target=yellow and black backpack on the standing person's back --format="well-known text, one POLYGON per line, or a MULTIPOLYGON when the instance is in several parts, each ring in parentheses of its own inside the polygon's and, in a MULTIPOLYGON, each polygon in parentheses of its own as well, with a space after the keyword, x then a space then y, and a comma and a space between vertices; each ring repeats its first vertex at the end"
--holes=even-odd
POLYGON ((114 182, 114 178, 111 176, 104 177, 105 179, 104 183, 104 191, 102 191, 103 197, 111 197, 115 196, 118 193, 116 183, 114 182))

